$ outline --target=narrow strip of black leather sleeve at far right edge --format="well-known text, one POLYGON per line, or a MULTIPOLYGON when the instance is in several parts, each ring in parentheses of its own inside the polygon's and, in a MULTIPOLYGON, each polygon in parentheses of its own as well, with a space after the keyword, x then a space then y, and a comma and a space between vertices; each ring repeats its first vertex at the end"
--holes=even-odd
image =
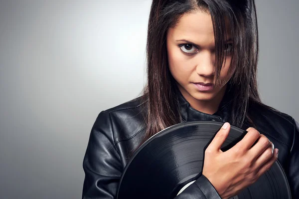
MULTIPOLYGON (((293 119, 294 120, 294 119, 293 119)), ((294 140, 290 152, 289 184, 293 199, 299 199, 299 124, 294 120, 294 140)))

